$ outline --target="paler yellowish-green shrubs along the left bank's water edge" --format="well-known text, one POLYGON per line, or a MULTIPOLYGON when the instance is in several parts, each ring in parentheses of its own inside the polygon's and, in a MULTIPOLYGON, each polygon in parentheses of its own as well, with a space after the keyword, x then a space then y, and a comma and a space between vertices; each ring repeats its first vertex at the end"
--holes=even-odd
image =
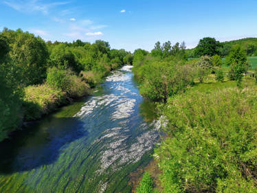
MULTIPOLYGON (((120 67, 117 66, 116 68, 118 69, 120 67)), ((111 69, 111 71, 113 70, 116 69, 111 69)), ((47 82, 45 84, 26 87, 24 92, 22 125, 40 120, 45 115, 58 110, 62 106, 91 95, 94 88, 104 82, 104 79, 109 76, 111 71, 104 73, 104 76, 100 78, 95 78, 96 75, 92 72, 90 76, 87 76, 87 73, 81 73, 81 77, 74 76, 70 81, 71 87, 67 91, 53 88, 47 82), (91 80, 90 84, 87 83, 89 79, 91 80)))

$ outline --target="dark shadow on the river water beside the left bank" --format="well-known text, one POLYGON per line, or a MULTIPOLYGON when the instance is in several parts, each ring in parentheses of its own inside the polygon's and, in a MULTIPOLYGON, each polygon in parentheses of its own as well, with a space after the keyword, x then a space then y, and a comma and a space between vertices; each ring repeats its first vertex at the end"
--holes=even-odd
POLYGON ((75 117, 45 117, 0 143, 0 174, 30 171, 54 163, 65 144, 87 135, 75 117))

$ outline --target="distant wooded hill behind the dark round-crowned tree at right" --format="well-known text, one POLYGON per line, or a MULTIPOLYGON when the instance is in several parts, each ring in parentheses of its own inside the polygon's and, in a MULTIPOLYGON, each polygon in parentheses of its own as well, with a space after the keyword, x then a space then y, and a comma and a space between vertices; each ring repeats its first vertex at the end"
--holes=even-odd
MULTIPOLYGON (((257 56, 257 38, 243 38, 234 41, 225 41, 221 42, 220 55, 227 56, 230 53, 231 47, 234 45, 241 45, 245 52, 247 52, 247 56, 257 56)), ((186 49, 186 53, 189 58, 194 58, 194 49, 186 49)))

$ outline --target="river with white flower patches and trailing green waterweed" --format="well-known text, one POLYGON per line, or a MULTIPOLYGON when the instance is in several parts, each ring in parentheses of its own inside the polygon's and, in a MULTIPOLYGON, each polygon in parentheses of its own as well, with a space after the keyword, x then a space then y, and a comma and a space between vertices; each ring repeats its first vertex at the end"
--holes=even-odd
POLYGON ((90 97, 0 143, 0 192, 131 192, 129 174, 159 136, 149 106, 131 66, 114 71, 90 97))

